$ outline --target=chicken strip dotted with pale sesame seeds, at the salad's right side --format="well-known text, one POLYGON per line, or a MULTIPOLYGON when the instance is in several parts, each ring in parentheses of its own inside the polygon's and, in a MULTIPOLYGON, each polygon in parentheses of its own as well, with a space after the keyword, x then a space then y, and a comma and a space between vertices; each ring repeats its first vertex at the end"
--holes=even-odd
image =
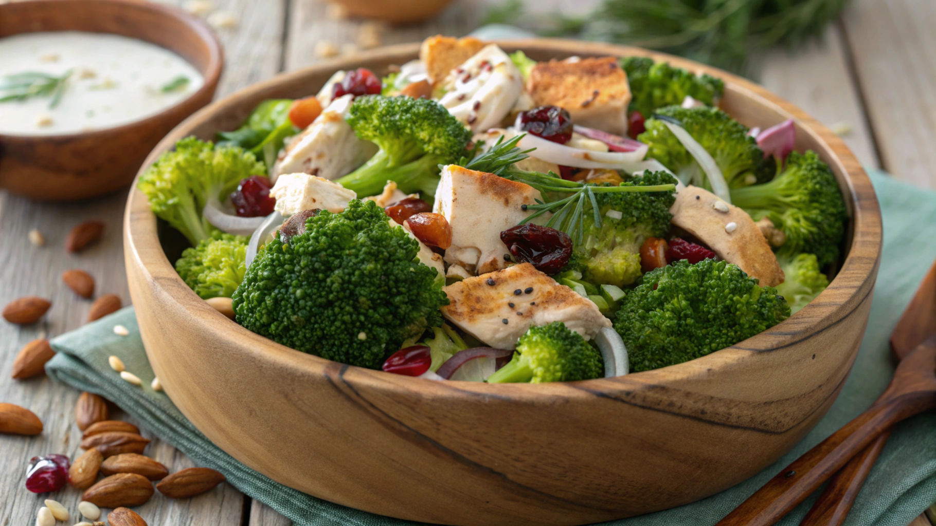
POLYGON ((761 285, 776 287, 783 282, 783 270, 767 239, 738 206, 728 205, 705 189, 687 186, 676 193, 669 211, 673 224, 695 235, 724 261, 759 279, 761 285))

